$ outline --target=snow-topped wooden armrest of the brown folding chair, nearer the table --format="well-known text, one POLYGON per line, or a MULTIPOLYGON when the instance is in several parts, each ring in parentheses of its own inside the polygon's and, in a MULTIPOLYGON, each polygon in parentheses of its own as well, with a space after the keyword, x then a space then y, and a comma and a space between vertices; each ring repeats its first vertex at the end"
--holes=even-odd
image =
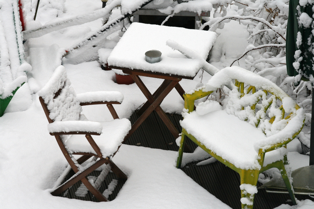
POLYGON ((121 104, 123 94, 119 91, 92 91, 76 95, 81 106, 92 104, 121 104))

